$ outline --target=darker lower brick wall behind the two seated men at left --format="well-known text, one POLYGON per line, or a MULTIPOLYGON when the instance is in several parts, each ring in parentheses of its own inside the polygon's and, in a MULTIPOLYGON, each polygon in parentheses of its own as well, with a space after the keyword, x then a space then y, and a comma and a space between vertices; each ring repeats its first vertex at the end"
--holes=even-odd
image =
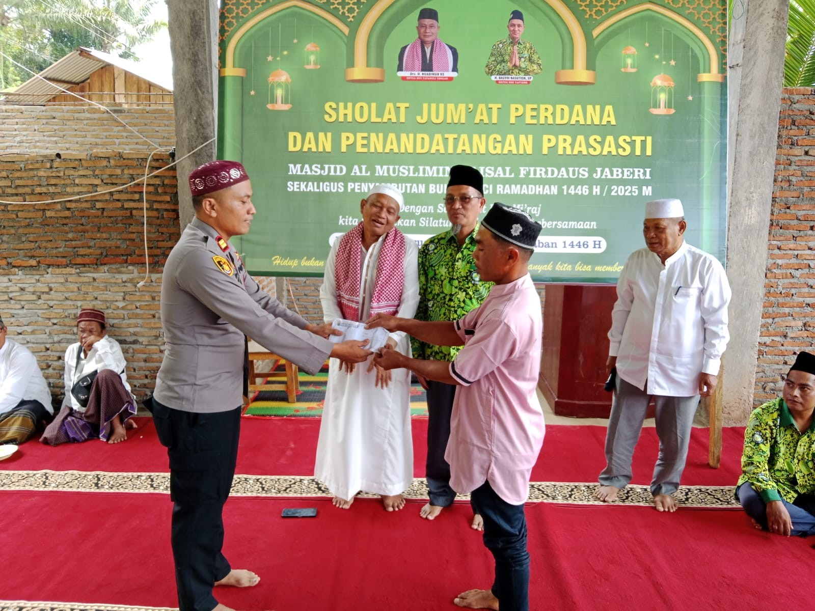
MULTIPOLYGON (((145 276, 142 184, 123 191, 46 203, 121 187, 144 176, 148 152, 0 155, 0 316, 9 336, 29 347, 55 402, 64 396, 64 351, 76 340, 81 307, 108 316, 137 398, 152 389, 161 364, 161 271, 178 241, 174 169, 148 178, 145 276)), ((152 157, 150 169, 170 162, 152 157)))

